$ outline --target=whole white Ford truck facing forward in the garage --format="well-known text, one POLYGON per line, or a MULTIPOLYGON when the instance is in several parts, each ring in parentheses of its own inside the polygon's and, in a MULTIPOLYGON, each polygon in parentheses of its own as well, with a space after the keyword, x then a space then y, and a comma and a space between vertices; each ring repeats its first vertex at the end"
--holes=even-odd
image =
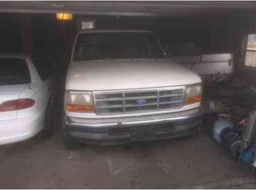
POLYGON ((78 33, 66 77, 63 141, 119 144, 193 134, 202 80, 164 58, 150 31, 78 33))

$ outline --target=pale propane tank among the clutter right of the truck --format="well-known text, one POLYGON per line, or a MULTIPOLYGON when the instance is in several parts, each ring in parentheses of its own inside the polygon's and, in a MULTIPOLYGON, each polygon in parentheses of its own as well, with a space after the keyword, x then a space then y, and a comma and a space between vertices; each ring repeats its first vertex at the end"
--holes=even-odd
POLYGON ((221 141, 221 132, 225 128, 233 128, 234 125, 230 121, 230 115, 220 114, 218 120, 213 124, 213 138, 217 141, 221 141))

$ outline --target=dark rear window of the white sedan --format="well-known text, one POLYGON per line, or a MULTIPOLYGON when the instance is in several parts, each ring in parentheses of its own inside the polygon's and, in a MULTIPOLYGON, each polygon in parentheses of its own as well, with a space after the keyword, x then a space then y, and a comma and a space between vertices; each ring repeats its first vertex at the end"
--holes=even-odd
POLYGON ((25 59, 0 57, 0 85, 20 85, 30 82, 25 59))

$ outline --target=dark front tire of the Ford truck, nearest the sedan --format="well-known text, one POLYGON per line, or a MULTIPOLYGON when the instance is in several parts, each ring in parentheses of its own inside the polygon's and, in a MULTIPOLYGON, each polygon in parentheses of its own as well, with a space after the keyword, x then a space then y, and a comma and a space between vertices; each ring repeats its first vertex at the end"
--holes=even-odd
MULTIPOLYGON (((63 119, 64 121, 64 119, 63 119)), ((68 132, 65 130, 66 128, 66 123, 65 121, 63 122, 63 132, 62 132, 62 140, 63 143, 66 147, 67 150, 75 150, 75 149, 79 149, 80 147, 82 147, 82 143, 79 142, 78 140, 76 140, 75 138, 71 137, 68 132)))

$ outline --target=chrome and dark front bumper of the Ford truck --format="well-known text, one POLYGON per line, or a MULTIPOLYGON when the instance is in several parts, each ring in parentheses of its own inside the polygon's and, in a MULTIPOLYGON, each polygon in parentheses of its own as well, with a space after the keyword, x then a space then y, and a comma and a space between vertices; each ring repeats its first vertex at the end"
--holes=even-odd
POLYGON ((202 108, 188 111, 111 119, 66 117, 65 130, 85 143, 119 144, 186 136, 197 130, 202 108))

